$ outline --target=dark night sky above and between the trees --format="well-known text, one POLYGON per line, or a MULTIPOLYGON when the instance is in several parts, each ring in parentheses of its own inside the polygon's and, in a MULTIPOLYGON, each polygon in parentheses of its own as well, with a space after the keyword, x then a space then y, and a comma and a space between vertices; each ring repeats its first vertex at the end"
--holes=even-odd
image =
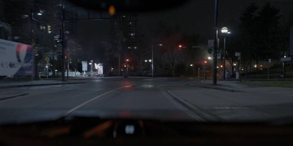
MULTIPOLYGON (((270 2, 280 9, 280 14, 292 11, 293 0, 219 0, 218 28, 234 25, 239 20, 242 11, 254 2, 260 8, 270 2)), ((170 26, 179 25, 186 34, 199 34, 213 38, 214 30, 214 0, 194 0, 163 11, 145 12, 138 14, 138 31, 152 43, 159 21, 165 21, 170 26)), ((110 20, 78 21, 77 36, 82 40, 84 50, 88 51, 89 59, 101 62, 103 52, 99 51, 100 41, 110 35, 110 20)), ((233 32, 232 32, 233 33, 233 32)))

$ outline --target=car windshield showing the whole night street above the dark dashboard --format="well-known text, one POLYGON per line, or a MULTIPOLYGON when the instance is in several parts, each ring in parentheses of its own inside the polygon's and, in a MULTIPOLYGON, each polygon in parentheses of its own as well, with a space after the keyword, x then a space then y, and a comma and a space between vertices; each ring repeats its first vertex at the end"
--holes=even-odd
POLYGON ((292 117, 291 0, 0 1, 0 125, 292 117))

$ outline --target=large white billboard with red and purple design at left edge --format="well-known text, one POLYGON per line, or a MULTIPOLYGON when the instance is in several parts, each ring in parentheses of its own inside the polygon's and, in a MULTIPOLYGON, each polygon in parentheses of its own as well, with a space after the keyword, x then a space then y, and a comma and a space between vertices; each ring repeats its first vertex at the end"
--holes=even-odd
POLYGON ((31 45, 0 39, 0 75, 32 75, 31 45))

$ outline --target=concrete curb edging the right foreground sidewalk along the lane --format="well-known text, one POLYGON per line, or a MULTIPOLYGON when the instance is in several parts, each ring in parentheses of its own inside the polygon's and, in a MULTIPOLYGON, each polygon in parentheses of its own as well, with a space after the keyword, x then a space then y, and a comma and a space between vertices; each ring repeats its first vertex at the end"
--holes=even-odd
POLYGON ((191 104, 190 102, 188 102, 187 100, 184 100, 184 99, 178 97, 177 95, 173 94, 170 90, 167 90, 167 93, 169 95, 171 95, 179 103, 181 103, 185 107, 189 108, 193 113, 195 113, 197 116, 202 118, 204 121, 221 121, 221 119, 219 117, 217 117, 216 115, 202 111, 200 109, 200 107, 197 107, 197 106, 191 104))

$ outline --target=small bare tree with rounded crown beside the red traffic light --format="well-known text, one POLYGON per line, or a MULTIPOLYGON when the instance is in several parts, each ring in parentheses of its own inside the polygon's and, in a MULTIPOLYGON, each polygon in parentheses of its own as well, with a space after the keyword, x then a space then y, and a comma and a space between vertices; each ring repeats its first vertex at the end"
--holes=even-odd
POLYGON ((175 77, 176 66, 183 62, 183 58, 184 54, 179 50, 168 51, 162 56, 162 62, 170 67, 173 77, 175 77))

